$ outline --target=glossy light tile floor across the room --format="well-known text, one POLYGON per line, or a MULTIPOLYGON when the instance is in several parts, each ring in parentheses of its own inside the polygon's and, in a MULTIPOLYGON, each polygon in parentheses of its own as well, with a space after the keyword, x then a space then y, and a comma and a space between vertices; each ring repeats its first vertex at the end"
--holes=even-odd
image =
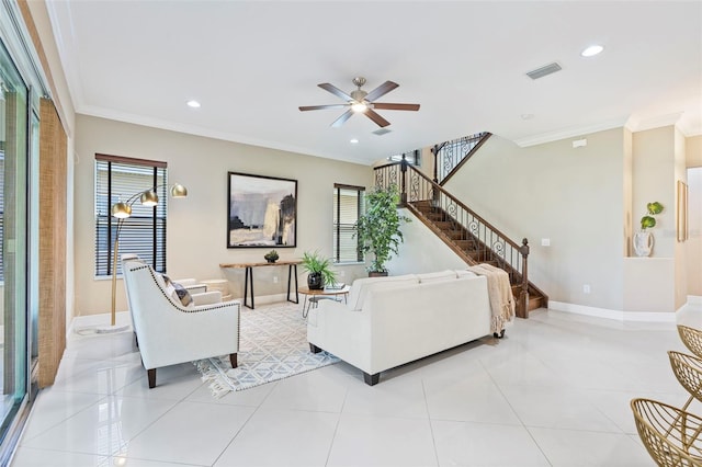
MULTIPOLYGON (((678 321, 702 328, 702 309, 678 321)), ((339 363, 215 399, 183 364, 149 390, 132 342, 69 339, 13 467, 652 466, 630 400, 688 397, 666 353, 687 351, 673 323, 545 309, 374 387, 339 363)))

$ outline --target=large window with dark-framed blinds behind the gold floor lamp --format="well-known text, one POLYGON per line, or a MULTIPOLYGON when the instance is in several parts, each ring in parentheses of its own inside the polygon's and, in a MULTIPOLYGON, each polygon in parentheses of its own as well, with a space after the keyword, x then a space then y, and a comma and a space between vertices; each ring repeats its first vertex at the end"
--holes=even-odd
MULTIPOLYGON (((117 259, 125 253, 138 254, 156 271, 166 272, 167 185, 166 162, 95 155, 95 276, 112 275, 117 235, 117 259), (149 189, 156 189, 159 200, 152 207, 139 202, 149 189), (132 206, 132 215, 122 226, 111 215, 112 205, 120 201, 132 206)), ((122 274, 118 260, 116 272, 122 274)))

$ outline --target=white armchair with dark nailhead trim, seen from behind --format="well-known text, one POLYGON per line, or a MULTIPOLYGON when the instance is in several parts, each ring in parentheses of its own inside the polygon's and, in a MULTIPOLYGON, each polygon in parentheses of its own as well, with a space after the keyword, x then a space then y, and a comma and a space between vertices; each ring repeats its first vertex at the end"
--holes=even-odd
POLYGON ((162 366, 229 354, 236 368, 239 301, 200 305, 199 295, 212 301, 218 292, 194 294, 193 304, 185 307, 169 294, 162 276, 138 258, 123 258, 122 272, 149 388, 156 386, 156 368, 162 366))

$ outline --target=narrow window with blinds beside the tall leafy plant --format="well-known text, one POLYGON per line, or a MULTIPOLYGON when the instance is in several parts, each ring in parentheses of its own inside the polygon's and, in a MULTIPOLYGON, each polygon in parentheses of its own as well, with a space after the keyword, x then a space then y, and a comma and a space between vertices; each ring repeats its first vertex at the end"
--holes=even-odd
POLYGON ((363 262, 363 251, 354 236, 355 223, 363 214, 363 186, 333 185, 333 262, 363 262))

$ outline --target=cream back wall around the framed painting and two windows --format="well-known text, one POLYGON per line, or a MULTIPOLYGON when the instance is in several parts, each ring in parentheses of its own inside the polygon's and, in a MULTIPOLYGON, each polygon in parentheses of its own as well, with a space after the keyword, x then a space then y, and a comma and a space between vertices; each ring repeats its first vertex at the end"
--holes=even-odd
MULTIPOLYGON (((262 262, 270 248, 227 249, 227 172, 297 180, 297 248, 278 248, 281 260, 304 251, 331 255, 335 183, 371 186, 366 166, 339 162, 274 149, 160 130, 79 115, 75 167, 76 316, 109 312, 110 281, 94 278, 95 152, 168 162, 169 182, 188 187, 188 197, 169 200, 168 259, 171 277, 222 278, 219 263, 262 262)), ((340 266, 343 282, 364 276, 363 265, 340 266)), ((259 296, 285 293, 287 269, 257 269, 259 296), (278 283, 274 283, 278 277, 278 283)), ((301 285, 307 274, 298 267, 301 285)), ((244 270, 227 274, 230 292, 241 297, 244 270)), ((262 300, 257 301, 262 303, 262 300)), ((117 284, 117 310, 126 310, 124 287, 117 284)))

